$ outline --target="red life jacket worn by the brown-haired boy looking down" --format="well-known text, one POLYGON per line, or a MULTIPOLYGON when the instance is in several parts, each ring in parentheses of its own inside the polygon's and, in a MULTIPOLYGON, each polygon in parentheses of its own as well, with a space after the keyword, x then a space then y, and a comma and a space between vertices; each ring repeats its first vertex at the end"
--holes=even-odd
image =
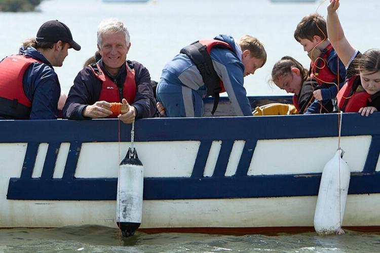
MULTIPOLYGON (((328 56, 331 53, 332 50, 331 44, 329 44, 322 52, 319 57, 314 62, 312 60, 310 64, 310 76, 318 82, 318 85, 323 85, 326 83, 326 85, 333 85, 333 83, 337 84, 337 76, 333 74, 330 69, 326 66, 328 56)), ((340 82, 341 80, 339 80, 340 82)))

